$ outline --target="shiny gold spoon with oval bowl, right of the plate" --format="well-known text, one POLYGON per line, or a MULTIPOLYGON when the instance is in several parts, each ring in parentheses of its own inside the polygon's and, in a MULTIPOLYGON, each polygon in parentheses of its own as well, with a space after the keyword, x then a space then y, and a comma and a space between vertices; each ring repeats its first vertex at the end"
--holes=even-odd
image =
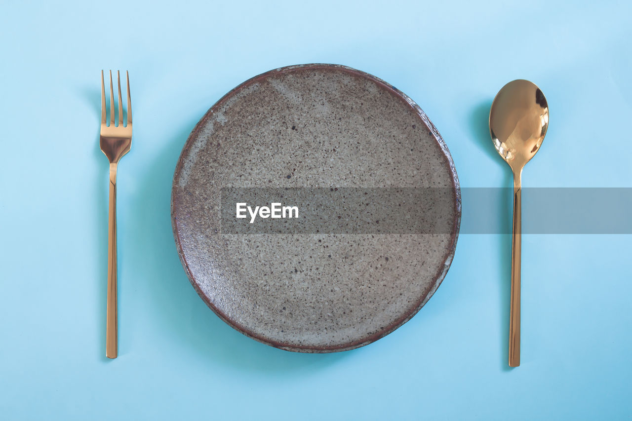
POLYGON ((489 131, 502 159, 514 176, 513 239, 511 241, 511 314, 509 366, 520 365, 520 240, 521 178, 549 126, 549 106, 540 88, 528 80, 514 80, 498 92, 489 111, 489 131))

